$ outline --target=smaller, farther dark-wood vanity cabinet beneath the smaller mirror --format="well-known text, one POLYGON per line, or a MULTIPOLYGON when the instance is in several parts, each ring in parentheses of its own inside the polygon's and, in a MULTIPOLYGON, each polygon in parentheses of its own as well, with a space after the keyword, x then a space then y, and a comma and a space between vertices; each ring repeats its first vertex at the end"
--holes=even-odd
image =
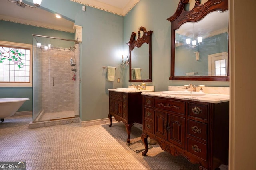
POLYGON ((109 127, 112 126, 112 116, 116 121, 124 122, 127 131, 127 142, 130 142, 133 123, 142 124, 142 95, 141 92, 109 91, 109 127))

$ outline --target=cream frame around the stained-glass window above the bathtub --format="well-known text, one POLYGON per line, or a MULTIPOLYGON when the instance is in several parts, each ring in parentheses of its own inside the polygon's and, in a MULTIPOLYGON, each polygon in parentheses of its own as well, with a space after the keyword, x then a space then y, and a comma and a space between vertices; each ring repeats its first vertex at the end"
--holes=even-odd
POLYGON ((17 47, 17 48, 26 48, 30 49, 30 82, 0 82, 0 87, 32 87, 33 86, 33 45, 24 44, 24 43, 14 43, 8 41, 0 41, 0 45, 17 47))

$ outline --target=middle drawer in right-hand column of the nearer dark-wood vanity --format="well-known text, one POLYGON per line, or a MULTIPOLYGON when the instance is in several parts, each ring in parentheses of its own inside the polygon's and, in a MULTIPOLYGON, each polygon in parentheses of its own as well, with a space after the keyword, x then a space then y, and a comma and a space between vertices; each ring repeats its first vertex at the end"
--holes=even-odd
POLYGON ((207 140, 207 124, 188 120, 188 134, 207 140))

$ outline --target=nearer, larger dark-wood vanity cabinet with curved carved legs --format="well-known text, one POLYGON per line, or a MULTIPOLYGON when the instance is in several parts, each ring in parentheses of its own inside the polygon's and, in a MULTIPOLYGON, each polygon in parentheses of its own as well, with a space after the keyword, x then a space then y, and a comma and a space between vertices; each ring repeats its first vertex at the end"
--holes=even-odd
POLYGON ((228 164, 228 128, 229 102, 143 95, 143 156, 150 137, 173 156, 198 163, 200 170, 215 170, 228 164))

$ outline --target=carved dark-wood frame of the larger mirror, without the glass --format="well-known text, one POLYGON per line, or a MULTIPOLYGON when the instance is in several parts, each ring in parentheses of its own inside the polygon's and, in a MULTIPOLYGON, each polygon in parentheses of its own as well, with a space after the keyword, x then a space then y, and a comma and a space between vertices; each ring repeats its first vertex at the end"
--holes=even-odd
MULTIPOLYGON (((192 10, 186 11, 184 6, 189 0, 180 0, 176 12, 167 18, 171 22, 171 76, 169 80, 198 80, 198 81, 229 81, 229 66, 227 68, 227 76, 175 76, 175 30, 186 22, 197 22, 203 19, 207 14, 213 11, 228 10, 228 0, 208 0, 204 4, 200 4, 200 0, 196 0, 192 10)), ((229 57, 228 57, 229 65, 229 57)))

